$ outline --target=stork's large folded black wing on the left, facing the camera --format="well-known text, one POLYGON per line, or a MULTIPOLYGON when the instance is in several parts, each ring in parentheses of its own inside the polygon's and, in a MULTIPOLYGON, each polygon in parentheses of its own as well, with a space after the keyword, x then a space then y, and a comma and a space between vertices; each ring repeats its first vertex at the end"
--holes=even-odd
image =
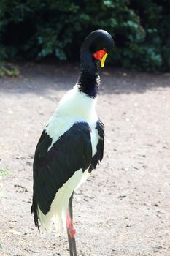
POLYGON ((82 168, 87 169, 92 161, 90 127, 87 123, 74 124, 47 151, 52 138, 45 131, 39 139, 34 156, 34 195, 31 212, 38 225, 37 206, 43 214, 50 211, 56 192, 82 168))

